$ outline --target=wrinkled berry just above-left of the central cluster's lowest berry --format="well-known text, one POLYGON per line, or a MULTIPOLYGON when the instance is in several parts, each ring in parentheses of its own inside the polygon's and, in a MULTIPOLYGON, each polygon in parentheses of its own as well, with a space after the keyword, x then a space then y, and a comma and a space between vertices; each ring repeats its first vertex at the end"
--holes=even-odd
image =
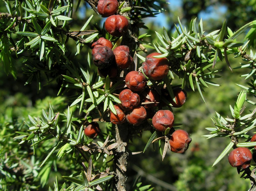
POLYGON ((170 110, 159 110, 152 118, 152 124, 158 131, 165 131, 174 124, 174 114, 170 110))

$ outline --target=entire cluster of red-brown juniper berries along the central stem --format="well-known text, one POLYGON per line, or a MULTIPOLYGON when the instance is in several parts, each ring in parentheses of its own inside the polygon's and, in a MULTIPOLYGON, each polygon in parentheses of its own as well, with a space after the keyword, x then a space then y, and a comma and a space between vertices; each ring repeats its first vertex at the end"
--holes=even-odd
MULTIPOLYGON (((105 29, 112 36, 122 36, 129 27, 126 17, 115 15, 119 8, 117 0, 99 0, 98 12, 103 17, 108 17, 105 21, 105 29)), ((95 66, 98 67, 98 74, 102 78, 109 76, 113 79, 118 74, 119 69, 126 69, 133 63, 128 46, 117 46, 114 50, 111 41, 99 38, 92 44, 92 58, 95 66)), ((119 94, 121 104, 114 105, 116 114, 110 111, 110 121, 113 124, 128 122, 132 125, 140 125, 146 118, 152 118, 152 124, 156 130, 164 132, 167 128, 172 128, 174 124, 174 114, 170 110, 159 110, 154 116, 147 116, 147 111, 157 107, 160 102, 159 94, 147 87, 147 78, 150 80, 162 80, 169 71, 167 58, 155 58, 160 53, 149 54, 145 62, 142 63, 140 71, 130 71, 125 76, 126 89, 119 94), (146 77, 147 78, 146 78, 146 77)), ((173 107, 181 107, 186 101, 186 92, 181 88, 173 88, 175 101, 172 100, 167 89, 162 90, 164 97, 173 107)), ((162 104, 162 106, 164 106, 162 104)), ((150 113, 150 112, 149 112, 150 113)), ((91 123, 85 129, 90 133, 89 137, 94 138, 99 133, 98 123, 91 123), (95 128, 92 126, 95 125, 95 128), (87 130, 88 128, 88 130, 87 130), (89 130, 90 128, 90 130, 89 130)), ((173 132, 173 131, 172 131, 173 132)), ((187 150, 191 138, 184 130, 176 130, 169 138, 171 151, 183 153, 187 150)))

